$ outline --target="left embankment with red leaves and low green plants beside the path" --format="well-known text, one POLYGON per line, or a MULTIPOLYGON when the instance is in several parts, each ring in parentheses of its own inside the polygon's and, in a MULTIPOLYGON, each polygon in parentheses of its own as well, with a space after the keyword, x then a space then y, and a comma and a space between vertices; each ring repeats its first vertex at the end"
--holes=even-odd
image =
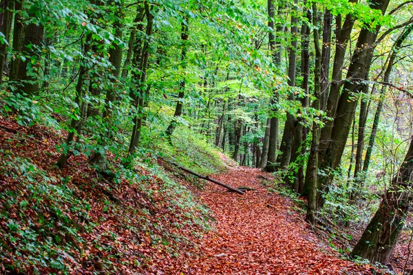
POLYGON ((0 271, 151 274, 207 228, 206 210, 156 164, 128 180, 98 175, 84 155, 58 168, 62 140, 0 118, 0 271))

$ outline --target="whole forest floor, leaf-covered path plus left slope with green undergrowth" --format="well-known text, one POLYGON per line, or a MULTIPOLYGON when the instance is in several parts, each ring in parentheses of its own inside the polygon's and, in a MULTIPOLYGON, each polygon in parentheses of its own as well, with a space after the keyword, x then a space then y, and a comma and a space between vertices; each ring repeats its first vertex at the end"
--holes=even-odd
POLYGON ((171 203, 184 197, 169 192, 163 179, 140 171, 148 175, 142 188, 151 189, 151 197, 125 180, 102 187, 106 181, 92 180, 96 172, 84 156, 63 169, 54 165, 61 142, 45 126, 0 118, 0 167, 7 169, 0 173, 0 274, 11 268, 14 274, 61 274, 60 264, 70 274, 372 274, 370 265, 341 259, 299 206, 270 191, 274 179, 259 169, 224 159, 227 172, 213 176, 255 188, 244 195, 215 184, 200 190, 176 176, 195 193, 192 205, 210 210, 213 229, 200 238, 203 231, 189 217, 204 214, 171 203))

